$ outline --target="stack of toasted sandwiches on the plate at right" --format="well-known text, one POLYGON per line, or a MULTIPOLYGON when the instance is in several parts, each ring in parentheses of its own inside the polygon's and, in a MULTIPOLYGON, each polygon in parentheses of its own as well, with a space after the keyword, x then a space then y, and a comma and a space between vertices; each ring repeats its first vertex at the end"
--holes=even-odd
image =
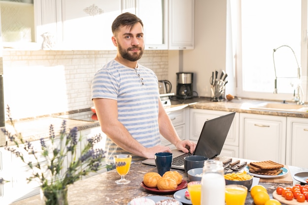
POLYGON ((271 160, 261 161, 261 162, 250 162, 248 164, 249 172, 257 175, 269 175, 275 176, 279 175, 284 167, 282 164, 278 164, 271 160))

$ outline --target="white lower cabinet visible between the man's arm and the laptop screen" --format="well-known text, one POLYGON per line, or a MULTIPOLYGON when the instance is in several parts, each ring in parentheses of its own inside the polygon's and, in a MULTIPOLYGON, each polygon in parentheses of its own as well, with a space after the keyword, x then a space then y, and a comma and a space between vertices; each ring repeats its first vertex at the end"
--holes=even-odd
MULTIPOLYGON (((188 130, 186 129, 186 125, 185 125, 185 118, 186 118, 185 116, 187 112, 188 112, 188 109, 182 109, 182 110, 167 113, 181 140, 185 140, 185 136, 187 136, 186 132, 188 132, 188 130)), ((171 149, 175 148, 175 146, 172 145, 164 137, 161 136, 160 140, 161 140, 161 145, 170 146, 171 149)))

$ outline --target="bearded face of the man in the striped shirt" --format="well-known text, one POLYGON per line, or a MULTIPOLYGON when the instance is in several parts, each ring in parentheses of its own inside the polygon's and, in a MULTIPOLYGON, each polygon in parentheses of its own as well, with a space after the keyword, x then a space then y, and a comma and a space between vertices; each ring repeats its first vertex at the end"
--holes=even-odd
POLYGON ((132 28, 123 26, 116 36, 118 52, 123 59, 137 61, 142 57, 144 50, 143 28, 140 23, 132 28))

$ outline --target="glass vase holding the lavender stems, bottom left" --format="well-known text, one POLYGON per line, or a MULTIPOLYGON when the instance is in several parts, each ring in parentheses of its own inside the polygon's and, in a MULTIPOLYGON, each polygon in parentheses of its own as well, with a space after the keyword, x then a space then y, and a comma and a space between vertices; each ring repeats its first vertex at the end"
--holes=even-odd
POLYGON ((41 205, 68 205, 67 188, 60 190, 40 189, 41 205))

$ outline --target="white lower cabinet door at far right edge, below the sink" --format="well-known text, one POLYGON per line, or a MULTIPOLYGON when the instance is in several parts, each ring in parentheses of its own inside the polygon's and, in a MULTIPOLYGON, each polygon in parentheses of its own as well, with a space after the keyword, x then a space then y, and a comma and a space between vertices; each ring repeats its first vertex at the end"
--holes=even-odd
POLYGON ((286 164, 308 168, 308 118, 287 117, 286 164))

